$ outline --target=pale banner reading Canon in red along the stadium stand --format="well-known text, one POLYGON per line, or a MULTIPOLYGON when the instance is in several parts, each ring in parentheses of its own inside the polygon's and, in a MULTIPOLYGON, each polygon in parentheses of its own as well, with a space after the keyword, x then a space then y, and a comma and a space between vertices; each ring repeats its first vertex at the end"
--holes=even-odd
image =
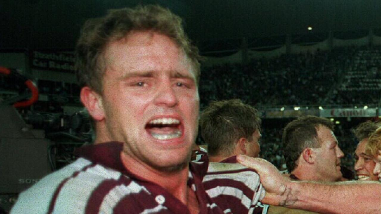
POLYGON ((376 117, 377 108, 331 108, 320 110, 320 117, 376 117))

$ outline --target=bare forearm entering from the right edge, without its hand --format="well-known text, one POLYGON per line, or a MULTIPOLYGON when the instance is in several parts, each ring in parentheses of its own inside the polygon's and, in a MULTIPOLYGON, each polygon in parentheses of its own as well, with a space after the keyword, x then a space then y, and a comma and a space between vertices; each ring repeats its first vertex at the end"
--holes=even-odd
POLYGON ((380 213, 379 182, 290 182, 279 201, 281 206, 322 213, 380 213))

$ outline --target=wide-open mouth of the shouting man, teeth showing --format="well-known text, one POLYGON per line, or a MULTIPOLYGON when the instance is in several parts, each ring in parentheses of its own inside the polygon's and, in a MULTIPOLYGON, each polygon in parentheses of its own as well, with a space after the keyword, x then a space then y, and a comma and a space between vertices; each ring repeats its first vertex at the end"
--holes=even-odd
POLYGON ((182 135, 180 120, 171 117, 150 120, 145 128, 153 138, 159 140, 179 138, 182 135))

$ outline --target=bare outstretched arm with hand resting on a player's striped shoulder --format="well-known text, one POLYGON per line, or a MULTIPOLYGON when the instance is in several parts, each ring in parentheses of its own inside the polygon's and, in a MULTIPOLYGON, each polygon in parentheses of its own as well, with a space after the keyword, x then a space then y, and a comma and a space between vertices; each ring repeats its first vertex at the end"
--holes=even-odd
POLYGON ((379 182, 291 181, 264 159, 239 156, 237 160, 258 172, 266 189, 263 203, 322 213, 381 212, 379 182))

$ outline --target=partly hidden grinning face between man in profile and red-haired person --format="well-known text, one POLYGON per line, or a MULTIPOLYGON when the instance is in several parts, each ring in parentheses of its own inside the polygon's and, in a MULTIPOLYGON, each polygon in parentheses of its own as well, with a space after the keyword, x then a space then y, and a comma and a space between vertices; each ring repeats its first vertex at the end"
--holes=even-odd
POLYGON ((378 181, 378 177, 373 174, 375 162, 372 157, 365 154, 367 141, 367 138, 360 141, 355 151, 355 170, 357 179, 360 181, 378 181))

